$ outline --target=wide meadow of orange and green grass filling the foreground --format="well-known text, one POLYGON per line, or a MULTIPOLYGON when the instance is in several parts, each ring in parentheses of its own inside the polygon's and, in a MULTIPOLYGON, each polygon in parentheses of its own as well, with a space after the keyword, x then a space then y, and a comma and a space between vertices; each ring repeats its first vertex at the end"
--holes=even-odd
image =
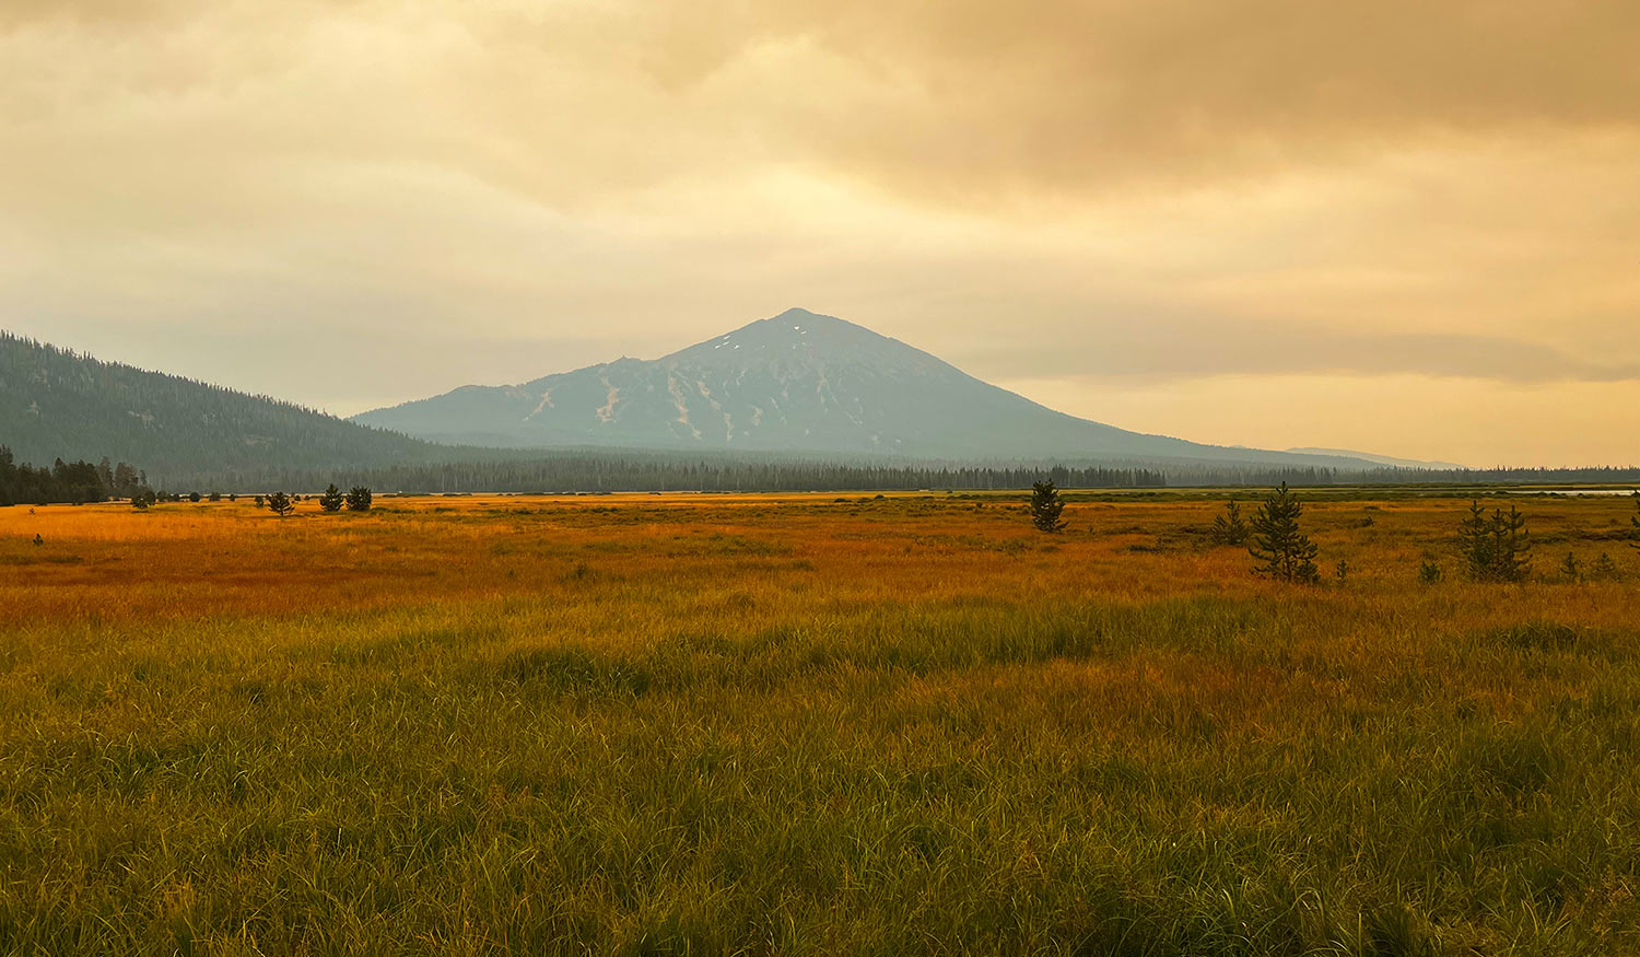
POLYGON ((1633 504, 1369 496, 0 509, 0 954, 1640 954, 1633 504))

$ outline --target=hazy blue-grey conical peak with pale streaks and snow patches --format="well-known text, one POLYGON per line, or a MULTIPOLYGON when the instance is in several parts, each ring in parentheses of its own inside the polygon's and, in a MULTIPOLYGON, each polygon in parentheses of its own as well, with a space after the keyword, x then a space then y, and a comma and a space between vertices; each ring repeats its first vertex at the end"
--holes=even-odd
POLYGON ((515 448, 1364 468, 1353 456, 1199 445, 1076 419, 802 309, 659 359, 623 358, 520 386, 464 386, 353 420, 431 442, 515 448))

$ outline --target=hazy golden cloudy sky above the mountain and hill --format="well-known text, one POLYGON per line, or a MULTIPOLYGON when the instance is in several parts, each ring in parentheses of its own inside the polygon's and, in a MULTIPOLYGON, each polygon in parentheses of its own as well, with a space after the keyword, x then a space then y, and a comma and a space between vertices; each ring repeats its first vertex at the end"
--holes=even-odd
POLYGON ((1633 0, 3 0, 0 328, 348 415, 789 307, 1100 422, 1640 465, 1633 0))

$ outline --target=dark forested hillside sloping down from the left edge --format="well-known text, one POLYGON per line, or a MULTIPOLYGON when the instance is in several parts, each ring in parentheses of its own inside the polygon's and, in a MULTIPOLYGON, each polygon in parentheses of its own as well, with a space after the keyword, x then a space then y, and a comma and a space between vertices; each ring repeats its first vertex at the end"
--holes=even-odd
POLYGON ((0 445, 167 474, 428 461, 446 450, 323 412, 0 333, 0 445))

